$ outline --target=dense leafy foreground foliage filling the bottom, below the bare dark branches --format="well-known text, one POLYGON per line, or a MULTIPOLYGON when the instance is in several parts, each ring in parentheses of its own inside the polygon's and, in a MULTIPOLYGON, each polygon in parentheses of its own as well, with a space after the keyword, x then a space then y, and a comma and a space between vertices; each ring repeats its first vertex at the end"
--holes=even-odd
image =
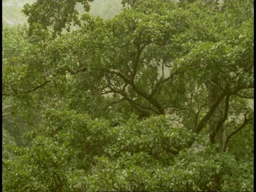
POLYGON ((193 134, 166 117, 138 122, 134 116, 109 127, 107 121, 52 109, 44 121, 35 130, 33 147, 18 149, 19 157, 6 162, 12 171, 4 172, 4 189, 205 190, 216 173, 222 190, 253 189, 253 164, 211 146, 182 149, 193 134), (169 153, 172 148, 179 148, 179 156, 169 153))

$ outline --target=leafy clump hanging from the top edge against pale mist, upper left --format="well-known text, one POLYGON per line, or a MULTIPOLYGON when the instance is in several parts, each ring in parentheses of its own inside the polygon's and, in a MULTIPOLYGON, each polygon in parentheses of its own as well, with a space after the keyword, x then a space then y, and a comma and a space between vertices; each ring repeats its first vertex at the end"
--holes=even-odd
POLYGON ((71 24, 80 26, 78 15, 79 12, 75 9, 76 3, 81 3, 84 10, 90 10, 89 2, 93 0, 78 0, 78 1, 37 1, 29 5, 26 4, 22 12, 28 17, 29 35, 33 34, 37 27, 49 29, 52 27, 53 35, 59 35, 65 28, 70 31, 71 24), (51 11, 49 11, 51 10, 51 11))

